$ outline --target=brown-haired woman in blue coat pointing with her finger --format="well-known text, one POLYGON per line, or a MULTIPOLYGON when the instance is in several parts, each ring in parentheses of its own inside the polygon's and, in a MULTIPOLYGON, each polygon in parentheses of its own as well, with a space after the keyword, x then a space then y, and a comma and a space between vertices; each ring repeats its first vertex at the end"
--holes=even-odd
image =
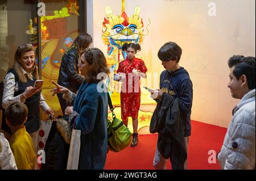
POLYGON ((103 79, 109 73, 104 54, 98 48, 87 48, 79 62, 82 83, 77 95, 67 88, 56 85, 53 95, 63 94, 73 107, 65 109, 69 125, 81 130, 79 169, 104 169, 106 162, 108 134, 108 91, 103 79), (103 78, 104 77, 104 78, 103 78))

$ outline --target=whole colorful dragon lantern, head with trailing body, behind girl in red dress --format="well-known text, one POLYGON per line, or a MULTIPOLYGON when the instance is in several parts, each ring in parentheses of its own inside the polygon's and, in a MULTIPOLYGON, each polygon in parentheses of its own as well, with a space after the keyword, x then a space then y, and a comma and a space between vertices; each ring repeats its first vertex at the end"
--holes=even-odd
POLYGON ((115 81, 113 75, 118 69, 119 62, 126 58, 126 53, 122 51, 122 45, 125 43, 141 44, 144 35, 144 24, 142 18, 139 17, 140 8, 135 7, 134 14, 130 17, 125 12, 125 0, 122 0, 121 16, 113 15, 110 7, 106 7, 106 16, 102 22, 102 41, 108 46, 108 65, 110 66, 110 75, 106 84, 108 85, 109 93, 114 92, 115 81), (121 57, 122 54, 122 57, 121 57))

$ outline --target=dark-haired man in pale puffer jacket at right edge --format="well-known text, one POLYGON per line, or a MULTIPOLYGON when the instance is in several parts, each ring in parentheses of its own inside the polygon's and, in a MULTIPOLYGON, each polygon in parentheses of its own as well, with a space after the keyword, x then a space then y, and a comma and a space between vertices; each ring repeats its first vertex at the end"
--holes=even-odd
POLYGON ((233 56, 228 65, 228 87, 241 101, 233 110, 218 162, 225 170, 255 169, 255 57, 233 56))

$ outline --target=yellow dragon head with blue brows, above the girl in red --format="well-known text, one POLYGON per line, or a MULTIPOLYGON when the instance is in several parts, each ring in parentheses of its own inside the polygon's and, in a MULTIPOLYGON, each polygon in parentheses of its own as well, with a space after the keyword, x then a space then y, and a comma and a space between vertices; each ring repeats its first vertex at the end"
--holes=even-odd
MULTIPOLYGON (((124 10, 121 16, 116 16, 112 14, 109 6, 106 7, 107 18, 102 22, 102 41, 108 45, 109 56, 113 54, 114 49, 122 50, 125 43, 141 44, 143 37, 148 35, 148 30, 146 35, 143 34, 143 20, 139 17, 139 12, 140 8, 137 6, 130 17, 124 10)), ((122 52, 122 54, 123 58, 126 58, 126 53, 122 52)))

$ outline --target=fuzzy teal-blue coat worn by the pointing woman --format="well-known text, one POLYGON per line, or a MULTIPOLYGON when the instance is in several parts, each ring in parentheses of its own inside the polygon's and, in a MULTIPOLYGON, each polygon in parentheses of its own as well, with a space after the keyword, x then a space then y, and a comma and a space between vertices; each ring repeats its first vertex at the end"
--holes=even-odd
POLYGON ((75 129, 81 130, 79 169, 104 169, 108 146, 108 96, 97 83, 82 83, 73 110, 79 113, 75 129))

